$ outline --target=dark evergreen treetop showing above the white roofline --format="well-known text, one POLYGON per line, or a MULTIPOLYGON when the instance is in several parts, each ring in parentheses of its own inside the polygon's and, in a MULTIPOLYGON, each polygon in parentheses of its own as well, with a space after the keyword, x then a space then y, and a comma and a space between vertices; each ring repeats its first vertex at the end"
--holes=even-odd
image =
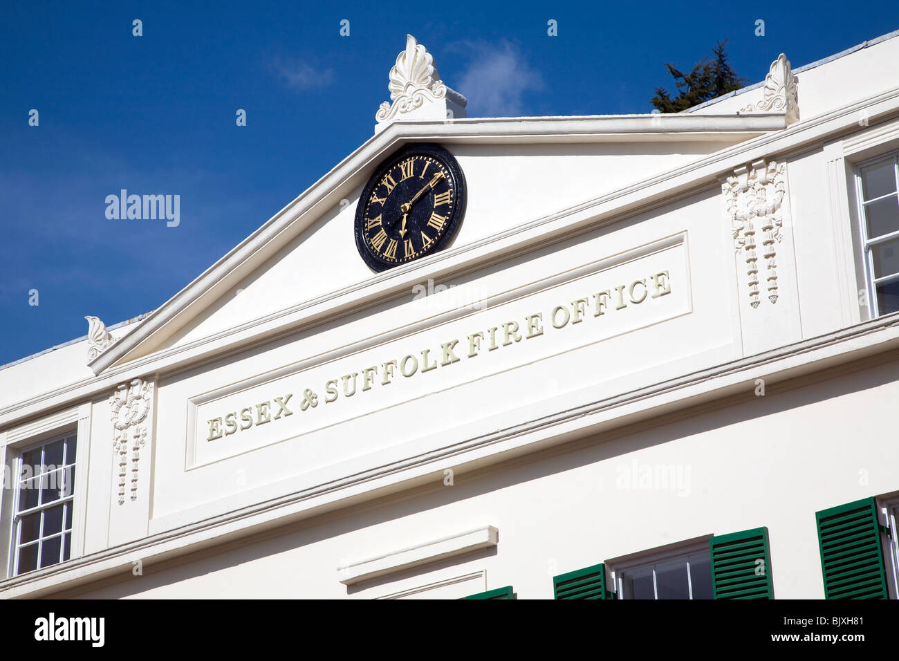
POLYGON ((736 75, 727 61, 725 44, 718 42, 712 49, 713 58, 702 58, 689 74, 684 74, 670 62, 665 62, 668 73, 674 78, 678 95, 672 99, 664 87, 655 88, 652 104, 662 112, 681 112, 709 99, 738 90, 747 82, 736 75))

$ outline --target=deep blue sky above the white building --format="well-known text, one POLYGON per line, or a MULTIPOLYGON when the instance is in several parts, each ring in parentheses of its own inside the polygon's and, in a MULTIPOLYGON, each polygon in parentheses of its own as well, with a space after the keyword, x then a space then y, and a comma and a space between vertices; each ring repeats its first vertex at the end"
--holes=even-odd
POLYGON ((899 28, 895 0, 832 5, 4 3, 0 364, 158 308, 359 147, 406 32, 469 116, 650 112, 717 40, 756 82, 899 28), (107 219, 122 188, 180 195, 180 225, 107 219))

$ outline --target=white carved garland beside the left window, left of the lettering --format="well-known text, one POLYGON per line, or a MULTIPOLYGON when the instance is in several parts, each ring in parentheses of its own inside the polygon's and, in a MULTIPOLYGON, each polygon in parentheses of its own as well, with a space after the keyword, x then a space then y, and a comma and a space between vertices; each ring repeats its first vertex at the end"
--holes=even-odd
POLYGON ((147 441, 147 415, 153 402, 153 383, 135 379, 123 383, 110 397, 112 447, 119 459, 119 505, 125 503, 128 446, 131 441, 131 500, 138 499, 138 460, 147 441))

